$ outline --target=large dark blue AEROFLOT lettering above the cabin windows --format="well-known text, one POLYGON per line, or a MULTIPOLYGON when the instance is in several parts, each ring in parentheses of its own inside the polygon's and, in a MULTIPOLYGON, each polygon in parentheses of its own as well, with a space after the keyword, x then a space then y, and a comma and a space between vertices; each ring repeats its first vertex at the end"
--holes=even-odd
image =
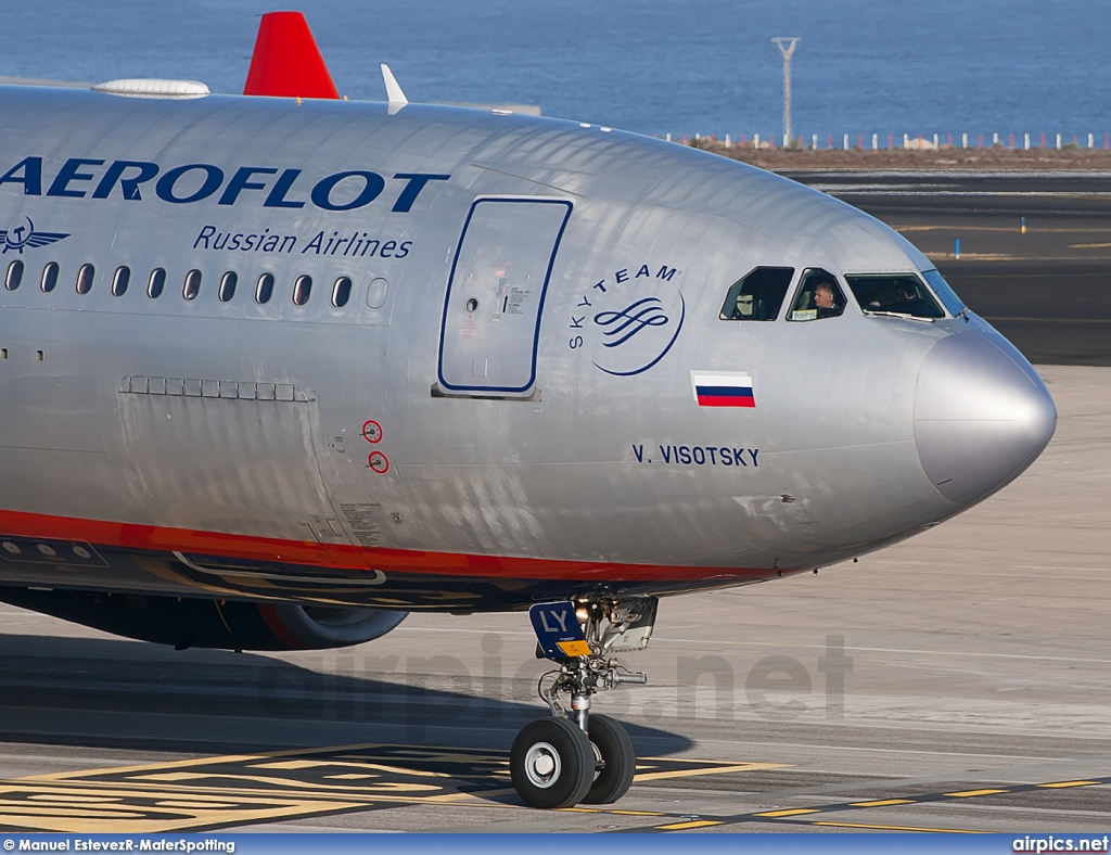
MULTIPOLYGON (((450 178, 430 172, 396 173, 389 179, 387 193, 393 200, 390 211, 408 213, 430 181, 450 178)), ((299 169, 277 167, 239 167, 229 178, 222 168, 211 163, 186 163, 163 171, 158 163, 146 160, 109 163, 98 158, 70 158, 51 175, 43 169, 42 158, 30 157, 0 175, 0 190, 6 184, 21 185, 23 195, 116 197, 140 202, 143 193, 153 192, 163 202, 189 204, 212 199, 219 192, 217 204, 222 205, 238 204, 242 199, 262 208, 304 208, 311 202, 324 211, 352 211, 378 199, 386 191, 387 179, 369 170, 350 169, 313 180, 302 178, 299 169), (46 193, 44 179, 50 179, 46 193)))

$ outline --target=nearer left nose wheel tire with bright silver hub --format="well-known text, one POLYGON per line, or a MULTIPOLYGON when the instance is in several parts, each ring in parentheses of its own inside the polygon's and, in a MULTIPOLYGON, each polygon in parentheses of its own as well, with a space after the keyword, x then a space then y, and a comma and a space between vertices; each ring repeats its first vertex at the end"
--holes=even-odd
POLYGON ((509 772, 526 804, 571 807, 594 781, 594 750, 587 734, 567 718, 538 718, 513 740, 509 772))

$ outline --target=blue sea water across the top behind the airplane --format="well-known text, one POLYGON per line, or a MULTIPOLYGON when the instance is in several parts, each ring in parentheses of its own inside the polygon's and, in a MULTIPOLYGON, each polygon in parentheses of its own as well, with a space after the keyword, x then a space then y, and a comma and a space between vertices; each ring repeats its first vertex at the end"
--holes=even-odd
MULTIPOLYGON (((3 0, 0 74, 239 92, 272 0, 3 0)), ((1111 132, 1111 3, 1082 0, 300 0, 340 91, 538 104, 675 135, 1111 132)))

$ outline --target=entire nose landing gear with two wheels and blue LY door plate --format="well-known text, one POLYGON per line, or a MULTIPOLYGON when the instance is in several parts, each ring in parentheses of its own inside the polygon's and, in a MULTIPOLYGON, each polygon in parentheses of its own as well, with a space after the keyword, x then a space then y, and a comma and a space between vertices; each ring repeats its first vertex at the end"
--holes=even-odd
POLYGON ((531 722, 517 735, 509 766, 518 795, 533 807, 609 804, 625 794, 637 770, 632 741, 607 715, 590 714, 595 692, 621 683, 647 683, 612 654, 648 646, 655 597, 582 596, 539 603, 529 611, 537 655, 559 664, 538 691, 552 717, 531 722), (561 695, 569 696, 564 704, 561 695))

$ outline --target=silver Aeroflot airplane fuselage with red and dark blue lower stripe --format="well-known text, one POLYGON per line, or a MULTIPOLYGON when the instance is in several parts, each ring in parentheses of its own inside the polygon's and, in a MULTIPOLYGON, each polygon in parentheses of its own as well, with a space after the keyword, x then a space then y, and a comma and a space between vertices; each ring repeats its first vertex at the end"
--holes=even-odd
POLYGON ((420 105, 0 114, 3 585, 478 611, 761 582, 960 513, 1053 432, 951 295, 859 304, 852 276, 932 270, 909 242, 722 158, 420 105), (764 268, 781 305, 732 320, 764 268), (839 314, 792 312, 813 270, 839 314))

